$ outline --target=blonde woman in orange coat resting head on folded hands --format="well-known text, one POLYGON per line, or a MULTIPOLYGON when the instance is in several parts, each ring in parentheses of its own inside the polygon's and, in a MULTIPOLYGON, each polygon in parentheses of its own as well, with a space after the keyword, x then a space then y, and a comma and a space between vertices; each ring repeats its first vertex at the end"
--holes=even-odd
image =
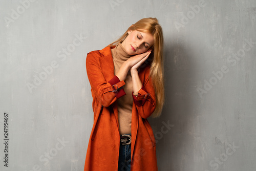
POLYGON ((88 53, 94 124, 84 170, 158 170, 156 142, 146 118, 161 114, 162 54, 156 18, 139 20, 108 47, 88 53))

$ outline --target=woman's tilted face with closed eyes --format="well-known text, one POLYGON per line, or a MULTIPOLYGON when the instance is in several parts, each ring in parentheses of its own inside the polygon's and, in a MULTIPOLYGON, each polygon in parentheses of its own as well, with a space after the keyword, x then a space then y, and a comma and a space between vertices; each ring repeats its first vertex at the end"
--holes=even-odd
POLYGON ((154 37, 150 33, 130 30, 128 34, 121 45, 129 55, 144 53, 154 45, 154 37))

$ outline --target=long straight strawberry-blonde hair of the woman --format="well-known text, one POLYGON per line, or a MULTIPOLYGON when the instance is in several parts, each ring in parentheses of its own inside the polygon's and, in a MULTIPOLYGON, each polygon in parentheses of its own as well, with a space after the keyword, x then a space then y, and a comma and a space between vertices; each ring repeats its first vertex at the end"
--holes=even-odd
POLYGON ((152 117, 159 117, 162 112, 164 103, 164 76, 163 76, 163 31, 158 23, 157 18, 142 18, 137 23, 129 27, 126 32, 116 41, 112 42, 109 47, 118 45, 127 36, 129 30, 137 30, 145 33, 151 33, 154 37, 152 52, 154 53, 151 62, 150 76, 156 93, 156 109, 152 117))

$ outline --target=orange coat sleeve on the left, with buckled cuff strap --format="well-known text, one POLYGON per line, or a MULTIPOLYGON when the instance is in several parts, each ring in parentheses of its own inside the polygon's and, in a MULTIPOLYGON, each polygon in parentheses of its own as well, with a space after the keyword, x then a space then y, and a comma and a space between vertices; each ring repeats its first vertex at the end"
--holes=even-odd
POLYGON ((97 100, 105 107, 110 106, 116 99, 125 95, 122 88, 124 81, 117 76, 107 81, 102 74, 98 57, 88 53, 86 58, 86 70, 93 93, 97 100))

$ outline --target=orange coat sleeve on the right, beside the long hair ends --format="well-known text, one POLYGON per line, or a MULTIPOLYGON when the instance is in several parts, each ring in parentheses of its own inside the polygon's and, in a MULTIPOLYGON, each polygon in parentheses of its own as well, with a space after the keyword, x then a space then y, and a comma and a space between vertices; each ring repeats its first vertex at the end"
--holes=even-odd
POLYGON ((150 117, 156 108, 155 89, 149 71, 145 76, 146 78, 142 88, 138 91, 138 96, 136 97, 132 94, 136 109, 139 115, 144 119, 150 117))

